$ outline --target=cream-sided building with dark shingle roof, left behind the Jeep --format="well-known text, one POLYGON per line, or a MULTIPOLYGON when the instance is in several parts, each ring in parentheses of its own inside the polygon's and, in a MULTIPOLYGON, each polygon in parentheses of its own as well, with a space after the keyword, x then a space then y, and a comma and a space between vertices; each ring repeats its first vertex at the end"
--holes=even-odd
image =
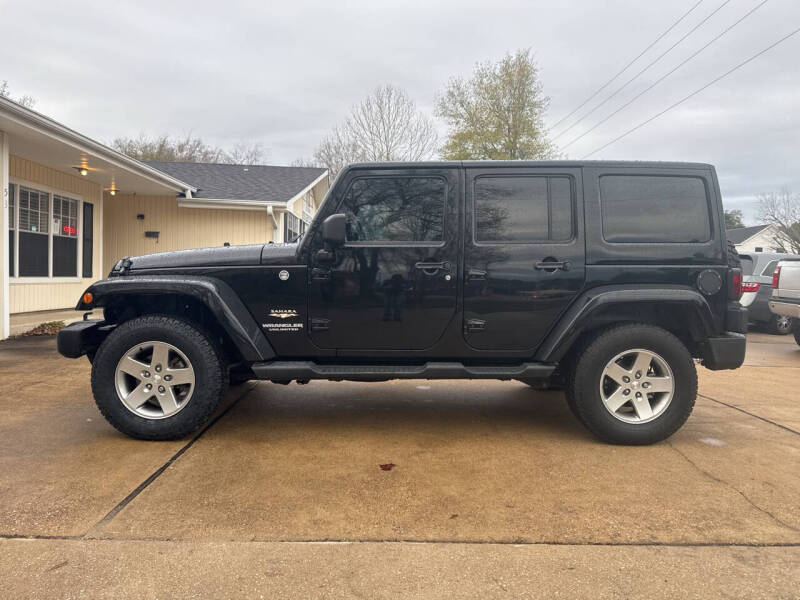
POLYGON ((0 97, 0 339, 121 257, 291 239, 327 189, 324 169, 143 163, 0 97))

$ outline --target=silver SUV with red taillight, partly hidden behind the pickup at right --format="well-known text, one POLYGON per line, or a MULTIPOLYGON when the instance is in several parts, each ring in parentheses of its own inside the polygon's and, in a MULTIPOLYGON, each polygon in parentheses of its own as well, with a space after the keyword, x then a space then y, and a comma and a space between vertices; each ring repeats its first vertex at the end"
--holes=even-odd
POLYGON ((796 254, 752 252, 739 255, 742 260, 742 306, 747 308, 751 323, 765 328, 769 333, 786 335, 792 332, 792 317, 776 315, 769 309, 772 296, 772 274, 778 262, 800 258, 796 254))

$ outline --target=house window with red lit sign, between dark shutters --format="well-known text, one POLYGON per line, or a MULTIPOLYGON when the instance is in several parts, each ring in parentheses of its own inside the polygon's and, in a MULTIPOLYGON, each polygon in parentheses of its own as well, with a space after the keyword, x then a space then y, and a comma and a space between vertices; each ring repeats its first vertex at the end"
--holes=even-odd
POLYGON ((10 275, 77 277, 79 200, 22 185, 9 194, 10 275))

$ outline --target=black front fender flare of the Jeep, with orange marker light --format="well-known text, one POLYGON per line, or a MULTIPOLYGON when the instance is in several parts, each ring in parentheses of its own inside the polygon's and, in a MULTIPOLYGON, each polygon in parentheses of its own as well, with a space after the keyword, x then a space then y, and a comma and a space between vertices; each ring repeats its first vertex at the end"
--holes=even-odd
POLYGON ((275 358, 275 351, 241 298, 219 279, 170 275, 111 277, 92 284, 86 291, 94 296, 92 304, 85 304, 81 296, 76 310, 91 310, 96 306, 104 306, 111 298, 126 295, 191 296, 202 302, 217 318, 246 361, 275 358))

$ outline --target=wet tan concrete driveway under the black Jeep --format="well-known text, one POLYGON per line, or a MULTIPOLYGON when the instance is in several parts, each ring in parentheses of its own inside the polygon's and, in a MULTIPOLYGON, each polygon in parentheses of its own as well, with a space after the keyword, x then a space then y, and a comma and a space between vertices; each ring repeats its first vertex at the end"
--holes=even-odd
POLYGON ((559 393, 460 381, 248 384, 156 443, 106 424, 86 360, 3 342, 0 588, 798 598, 800 348, 753 334, 745 367, 699 371, 689 422, 644 448, 559 393))

